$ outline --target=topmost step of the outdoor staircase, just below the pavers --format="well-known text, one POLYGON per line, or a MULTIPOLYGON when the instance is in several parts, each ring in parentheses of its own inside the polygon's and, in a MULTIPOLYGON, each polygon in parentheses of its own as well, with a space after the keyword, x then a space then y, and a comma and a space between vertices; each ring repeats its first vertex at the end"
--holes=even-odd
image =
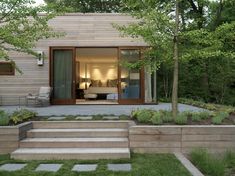
POLYGON ((128 128, 132 121, 33 121, 34 129, 128 128))

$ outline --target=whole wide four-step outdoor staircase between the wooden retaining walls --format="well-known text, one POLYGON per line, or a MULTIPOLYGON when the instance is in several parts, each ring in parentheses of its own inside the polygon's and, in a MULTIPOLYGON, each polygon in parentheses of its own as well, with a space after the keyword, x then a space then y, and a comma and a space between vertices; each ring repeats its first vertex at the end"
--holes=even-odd
POLYGON ((130 158, 129 121, 36 121, 11 157, 21 160, 130 158))

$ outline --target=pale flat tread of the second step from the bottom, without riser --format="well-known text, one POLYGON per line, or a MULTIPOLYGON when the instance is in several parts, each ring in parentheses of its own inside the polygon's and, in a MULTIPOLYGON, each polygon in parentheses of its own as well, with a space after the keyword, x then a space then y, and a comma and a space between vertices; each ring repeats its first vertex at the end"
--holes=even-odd
POLYGON ((26 138, 20 142, 128 142, 128 138, 26 138))

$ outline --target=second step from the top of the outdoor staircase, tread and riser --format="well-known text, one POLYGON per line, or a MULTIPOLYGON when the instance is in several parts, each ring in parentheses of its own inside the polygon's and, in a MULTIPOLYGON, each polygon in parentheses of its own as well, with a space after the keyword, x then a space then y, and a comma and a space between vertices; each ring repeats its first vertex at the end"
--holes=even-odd
POLYGON ((127 137, 128 129, 31 129, 29 138, 92 138, 92 137, 127 137))

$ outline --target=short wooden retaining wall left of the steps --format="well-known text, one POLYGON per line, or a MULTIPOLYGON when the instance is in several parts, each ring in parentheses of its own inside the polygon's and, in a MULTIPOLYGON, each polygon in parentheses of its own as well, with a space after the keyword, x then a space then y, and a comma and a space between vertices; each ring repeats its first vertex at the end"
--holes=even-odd
POLYGON ((26 137, 26 131, 31 128, 31 122, 16 126, 0 126, 0 154, 16 150, 19 147, 19 141, 26 137))

